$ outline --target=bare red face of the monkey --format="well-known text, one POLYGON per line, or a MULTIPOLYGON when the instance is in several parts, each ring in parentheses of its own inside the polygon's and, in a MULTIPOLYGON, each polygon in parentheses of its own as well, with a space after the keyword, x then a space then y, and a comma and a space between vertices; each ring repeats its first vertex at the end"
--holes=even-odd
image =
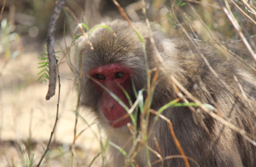
MULTIPOLYGON (((128 92, 131 87, 131 69, 124 67, 120 64, 111 64, 100 66, 96 69, 92 69, 89 75, 95 80, 98 80, 102 85, 113 92, 126 106, 129 107, 128 99, 126 98, 120 84, 128 92)), ((112 96, 105 91, 101 86, 94 83, 97 91, 100 93, 100 102, 102 112, 111 127, 118 128, 131 122, 131 118, 127 117, 119 118, 127 114, 127 111, 114 99, 112 96)))

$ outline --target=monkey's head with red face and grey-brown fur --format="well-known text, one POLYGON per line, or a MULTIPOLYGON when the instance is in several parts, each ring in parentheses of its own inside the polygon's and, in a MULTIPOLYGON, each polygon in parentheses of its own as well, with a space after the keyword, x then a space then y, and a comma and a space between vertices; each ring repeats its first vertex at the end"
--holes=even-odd
MULTIPOLYGON (((83 74, 94 79, 84 75, 81 82, 81 105, 90 109, 103 127, 120 128, 131 122, 131 119, 129 116, 120 119, 127 114, 127 111, 99 83, 130 108, 128 98, 122 88, 128 93, 132 102, 135 102, 132 82, 136 91, 147 84, 145 57, 139 37, 127 22, 115 20, 106 22, 105 25, 111 27, 117 36, 114 36, 109 29, 97 28, 89 39, 80 37, 78 41, 79 54, 83 56, 84 60, 83 74), (93 49, 89 46, 84 49, 88 40, 93 49)), ((141 22, 135 23, 135 26, 140 28, 138 30, 143 32, 141 35, 146 40, 147 57, 152 59, 154 56, 152 56, 150 47, 149 33, 142 29, 142 25, 141 22)), ((153 64, 149 62, 150 66, 153 64)))

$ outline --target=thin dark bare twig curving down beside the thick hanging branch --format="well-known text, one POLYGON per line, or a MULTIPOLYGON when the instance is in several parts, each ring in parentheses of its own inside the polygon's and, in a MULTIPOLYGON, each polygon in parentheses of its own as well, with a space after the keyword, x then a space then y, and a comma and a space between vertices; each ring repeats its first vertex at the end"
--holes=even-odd
MULTIPOLYGON (((57 64, 57 61, 56 61, 56 66, 58 66, 57 64)), ((50 147, 50 144, 51 144, 51 141, 52 141, 52 138, 53 138, 53 134, 54 134, 54 131, 55 131, 55 128, 56 128, 56 125, 57 125, 57 122, 58 122, 58 119, 59 119, 59 104, 60 104, 60 73, 59 73, 59 69, 57 67, 57 73, 58 73, 58 80, 59 80, 59 94, 58 94, 58 103, 57 103, 57 111, 56 111, 56 119, 55 119, 55 123, 54 123, 54 126, 53 126, 53 131, 51 132, 51 135, 50 135, 50 138, 49 138, 49 142, 48 142, 48 145, 45 149, 45 153, 41 156, 41 159, 37 165, 37 167, 40 166, 40 163, 42 162, 42 160, 44 159, 46 153, 49 151, 49 147, 50 147)))

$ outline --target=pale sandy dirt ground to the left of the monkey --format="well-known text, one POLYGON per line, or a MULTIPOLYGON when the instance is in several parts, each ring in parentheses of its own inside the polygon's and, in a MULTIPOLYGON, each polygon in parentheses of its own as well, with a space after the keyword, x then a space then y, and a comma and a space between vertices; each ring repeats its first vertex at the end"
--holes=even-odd
MULTIPOLYGON (((26 48, 24 51, 21 56, 8 63, 0 76, 0 167, 27 166, 26 154, 30 161, 32 152, 33 166, 37 165, 49 141, 56 118, 58 87, 53 98, 46 101, 49 82, 45 85, 36 81, 39 77, 37 73, 41 71, 37 69, 38 62, 42 62, 38 57, 43 55, 40 51, 27 52, 26 48)), ((59 53, 57 56, 61 58, 63 54, 59 53)), ((1 59, 0 67, 3 64, 4 60, 1 59)), ((74 138, 77 98, 67 63, 61 63, 59 71, 59 120, 53 135, 53 144, 41 165, 46 167, 70 166, 72 160, 70 146, 74 138)), ((86 117, 84 113, 81 114, 86 117)), ((97 126, 93 129, 97 131, 97 126)), ((75 142, 75 166, 87 166, 100 152, 99 142, 92 130, 79 119, 77 133, 82 130, 85 131, 75 142)), ((100 166, 101 159, 99 156, 92 167, 100 166)))

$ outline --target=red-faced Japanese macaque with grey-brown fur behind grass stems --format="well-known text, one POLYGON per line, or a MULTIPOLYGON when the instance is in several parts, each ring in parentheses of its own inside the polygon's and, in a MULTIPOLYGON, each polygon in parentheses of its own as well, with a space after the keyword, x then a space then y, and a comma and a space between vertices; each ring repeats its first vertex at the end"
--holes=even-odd
MULTIPOLYGON (((148 130, 154 127, 147 137, 147 145, 137 142, 135 150, 139 146, 144 147, 138 154, 131 150, 134 135, 131 127, 137 127, 136 137, 139 138, 142 114, 140 110, 132 113, 137 116, 137 125, 133 125, 130 116, 125 116, 127 110, 123 106, 131 108, 131 104, 124 92, 127 92, 132 103, 136 102, 136 94, 142 89, 144 100, 147 97, 148 75, 143 45, 128 22, 115 20, 103 24, 111 27, 116 35, 109 29, 97 28, 89 39, 86 36, 78 39, 84 76, 81 81, 80 107, 94 115, 110 141, 127 153, 125 157, 117 148, 109 145, 109 157, 113 161, 111 166, 122 167, 127 163, 131 166, 134 163, 135 166, 145 167, 148 165, 147 160, 150 160, 153 167, 184 167, 182 156, 175 156, 181 153, 168 123, 159 118, 154 125, 156 115, 153 113, 149 115, 148 130), (102 85, 124 105, 120 105, 102 85), (146 156, 145 147, 149 148, 150 158, 146 156)), ((212 47, 197 44, 199 52, 189 40, 153 28, 149 30, 143 22, 133 22, 133 25, 145 40, 151 83, 156 75, 155 69, 160 69, 151 100, 152 110, 158 111, 163 105, 180 97, 170 79, 173 76, 201 103, 214 106, 216 111, 211 110, 211 113, 250 134, 234 131, 200 107, 192 106, 197 112, 184 106, 165 109, 162 115, 172 122, 184 155, 190 157, 190 166, 256 167, 256 146, 253 145, 253 141, 256 141, 255 74, 250 74, 248 69, 236 62, 226 60, 212 47), (159 63, 150 34, 166 66, 159 63), (200 54, 207 59, 219 78, 212 73, 200 54)), ((180 97, 180 102, 193 102, 183 91, 180 92, 184 95, 183 99, 180 97)))

